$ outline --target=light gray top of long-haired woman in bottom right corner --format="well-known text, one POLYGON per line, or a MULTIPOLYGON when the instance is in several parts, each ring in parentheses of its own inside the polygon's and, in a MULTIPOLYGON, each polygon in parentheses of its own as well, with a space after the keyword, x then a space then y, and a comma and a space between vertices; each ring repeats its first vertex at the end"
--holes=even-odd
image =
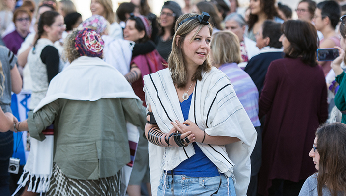
MULTIPOLYGON (((326 186, 322 188, 323 196, 331 196, 332 194, 326 186)), ((298 196, 318 196, 317 193, 317 174, 311 175, 305 180, 302 189, 298 196)), ((339 191, 338 196, 344 196, 344 194, 339 191)))

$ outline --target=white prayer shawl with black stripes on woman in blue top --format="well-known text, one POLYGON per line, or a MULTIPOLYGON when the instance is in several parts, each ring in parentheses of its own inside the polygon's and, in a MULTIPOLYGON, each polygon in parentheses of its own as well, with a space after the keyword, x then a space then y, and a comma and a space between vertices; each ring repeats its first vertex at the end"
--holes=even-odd
MULTIPOLYGON (((210 136, 237 137, 241 141, 229 145, 197 145, 221 173, 227 177, 234 174, 236 194, 244 196, 250 182, 250 155, 256 143, 256 130, 223 72, 213 67, 209 73, 202 73, 202 77, 202 81, 196 82, 188 119, 210 136)), ((162 132, 168 133, 173 128, 171 121, 184 122, 168 68, 144 76, 144 83, 146 104, 151 106, 162 132)), ((158 147, 149 143, 153 196, 156 196, 163 170, 173 170, 194 154, 192 145, 158 147)))

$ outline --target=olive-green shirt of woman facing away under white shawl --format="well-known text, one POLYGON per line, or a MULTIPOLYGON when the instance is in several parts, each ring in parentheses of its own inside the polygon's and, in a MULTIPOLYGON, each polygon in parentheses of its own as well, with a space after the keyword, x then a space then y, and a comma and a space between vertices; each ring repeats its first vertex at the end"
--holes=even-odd
POLYGON ((30 136, 42 141, 42 130, 53 121, 54 162, 67 177, 95 180, 114 176, 130 162, 126 121, 144 130, 146 114, 142 101, 133 98, 57 99, 29 112, 30 136))

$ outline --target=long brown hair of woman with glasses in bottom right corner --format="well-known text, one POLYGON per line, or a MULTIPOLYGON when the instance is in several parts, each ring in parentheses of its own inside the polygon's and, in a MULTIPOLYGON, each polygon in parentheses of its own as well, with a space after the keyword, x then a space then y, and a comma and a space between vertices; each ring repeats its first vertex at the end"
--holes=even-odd
POLYGON ((318 196, 327 186, 332 196, 338 191, 346 195, 346 125, 343 123, 325 124, 317 129, 317 151, 319 171, 317 177, 318 196))

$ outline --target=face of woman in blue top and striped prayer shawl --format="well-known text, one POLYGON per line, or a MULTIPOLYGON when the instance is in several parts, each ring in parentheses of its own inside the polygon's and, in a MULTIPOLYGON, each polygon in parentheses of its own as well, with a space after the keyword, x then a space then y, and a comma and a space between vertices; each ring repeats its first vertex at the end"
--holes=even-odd
MULTIPOLYGON (((204 63, 210 53, 210 41, 211 35, 208 26, 203 26, 196 37, 190 41, 195 35, 198 28, 195 28, 189 34, 186 35, 184 42, 182 43, 182 53, 184 57, 184 63, 187 66, 199 66, 204 63)), ((177 36, 179 39, 180 36, 177 36)))

